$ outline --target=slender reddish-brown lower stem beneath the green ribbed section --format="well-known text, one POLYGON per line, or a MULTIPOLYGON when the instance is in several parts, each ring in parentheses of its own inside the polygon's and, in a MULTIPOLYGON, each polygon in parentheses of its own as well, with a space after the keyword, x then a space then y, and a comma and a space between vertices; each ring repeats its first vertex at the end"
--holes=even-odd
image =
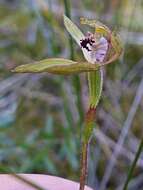
POLYGON ((86 178, 87 178, 87 168, 88 168, 88 147, 90 143, 90 138, 94 128, 95 119, 95 108, 89 108, 85 116, 85 127, 83 131, 82 148, 81 148, 81 161, 80 161, 80 187, 79 190, 84 190, 86 178))

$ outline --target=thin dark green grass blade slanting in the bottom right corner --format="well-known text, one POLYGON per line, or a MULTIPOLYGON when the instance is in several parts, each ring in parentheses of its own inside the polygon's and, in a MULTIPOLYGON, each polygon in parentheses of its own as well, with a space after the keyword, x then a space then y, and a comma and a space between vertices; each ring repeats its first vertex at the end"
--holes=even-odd
POLYGON ((138 159, 139 159, 139 156, 140 156, 142 150, 143 150, 143 138, 141 139, 141 142, 140 142, 140 144, 139 144, 137 153, 136 153, 136 155, 135 155, 135 159, 134 159, 134 161, 133 161, 133 163, 132 163, 132 165, 131 165, 131 167, 130 167, 130 169, 129 169, 129 172, 128 172, 128 175, 127 175, 127 179, 126 179, 126 181, 125 181, 123 190, 127 190, 127 188, 128 188, 129 182, 130 182, 130 180, 131 180, 131 178, 132 178, 132 176, 133 176, 134 169, 135 169, 135 167, 136 167, 137 161, 138 161, 138 159))

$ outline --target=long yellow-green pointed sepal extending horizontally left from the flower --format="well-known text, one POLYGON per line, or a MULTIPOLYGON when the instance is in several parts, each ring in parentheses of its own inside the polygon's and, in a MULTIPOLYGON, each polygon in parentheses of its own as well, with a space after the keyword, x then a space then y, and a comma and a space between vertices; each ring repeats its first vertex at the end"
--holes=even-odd
POLYGON ((63 58, 49 58, 39 62, 20 65, 13 69, 16 73, 41 73, 48 72, 53 74, 76 74, 81 72, 95 71, 100 64, 91 64, 88 62, 75 62, 63 58))

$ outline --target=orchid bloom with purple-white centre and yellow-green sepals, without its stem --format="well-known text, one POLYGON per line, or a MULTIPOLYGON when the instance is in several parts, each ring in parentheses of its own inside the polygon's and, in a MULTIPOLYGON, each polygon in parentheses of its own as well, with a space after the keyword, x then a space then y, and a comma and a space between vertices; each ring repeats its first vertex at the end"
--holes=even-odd
POLYGON ((44 59, 32 64, 26 64, 16 67, 13 71, 24 72, 49 72, 53 74, 75 74, 97 70, 99 67, 115 61, 122 52, 119 36, 111 32, 102 23, 96 20, 81 18, 81 24, 87 24, 95 28, 95 33, 88 32, 84 35, 79 28, 64 15, 64 24, 68 32, 81 47, 85 62, 76 62, 62 58, 44 59), (110 46, 110 48, 108 47, 110 46), (107 48, 108 47, 108 48, 107 48), (107 49, 111 50, 112 56, 107 58, 107 49), (102 55, 102 53, 104 55, 102 55))

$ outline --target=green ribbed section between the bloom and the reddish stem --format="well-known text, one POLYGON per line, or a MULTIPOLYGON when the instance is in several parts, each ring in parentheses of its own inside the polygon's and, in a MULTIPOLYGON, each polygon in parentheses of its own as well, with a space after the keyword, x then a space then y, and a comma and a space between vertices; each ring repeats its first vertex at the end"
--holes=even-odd
POLYGON ((103 87, 103 70, 88 73, 88 85, 89 85, 89 105, 92 108, 96 108, 102 93, 103 87))

